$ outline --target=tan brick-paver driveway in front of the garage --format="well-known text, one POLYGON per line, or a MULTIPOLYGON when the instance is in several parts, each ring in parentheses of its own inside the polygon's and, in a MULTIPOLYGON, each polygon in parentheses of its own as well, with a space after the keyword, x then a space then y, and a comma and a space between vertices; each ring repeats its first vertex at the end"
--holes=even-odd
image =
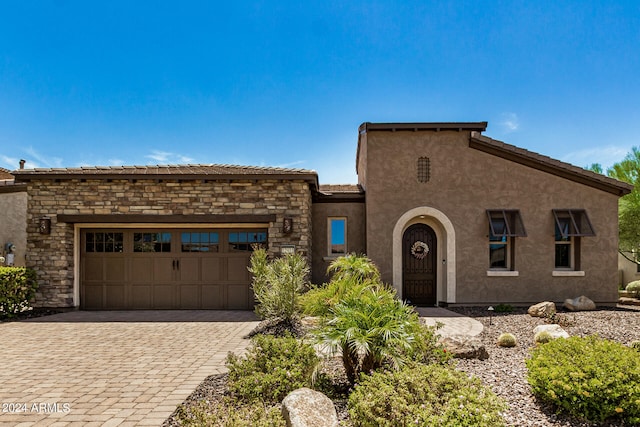
POLYGON ((160 426, 256 325, 249 311, 76 311, 0 324, 0 426, 160 426))

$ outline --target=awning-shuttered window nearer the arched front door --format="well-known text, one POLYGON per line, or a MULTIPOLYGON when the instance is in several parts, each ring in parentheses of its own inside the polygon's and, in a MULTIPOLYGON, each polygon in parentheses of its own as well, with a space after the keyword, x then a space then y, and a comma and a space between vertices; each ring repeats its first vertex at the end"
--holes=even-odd
POLYGON ((526 237, 524 223, 517 209, 488 209, 489 269, 514 270, 515 238, 526 237))

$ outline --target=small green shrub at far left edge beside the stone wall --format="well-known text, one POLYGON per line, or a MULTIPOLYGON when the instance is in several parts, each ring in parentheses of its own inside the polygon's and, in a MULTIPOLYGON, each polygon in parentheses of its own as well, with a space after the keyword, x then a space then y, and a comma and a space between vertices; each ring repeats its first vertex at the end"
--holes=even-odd
POLYGON ((29 309, 38 289, 36 272, 25 267, 0 267, 0 317, 29 309))

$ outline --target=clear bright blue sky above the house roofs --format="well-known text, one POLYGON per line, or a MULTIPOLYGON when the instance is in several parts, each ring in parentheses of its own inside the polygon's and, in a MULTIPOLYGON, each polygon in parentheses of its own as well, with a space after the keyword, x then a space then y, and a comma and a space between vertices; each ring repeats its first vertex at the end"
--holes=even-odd
POLYGON ((640 145, 637 1, 6 1, 0 167, 222 163, 355 183, 358 126, 640 145))

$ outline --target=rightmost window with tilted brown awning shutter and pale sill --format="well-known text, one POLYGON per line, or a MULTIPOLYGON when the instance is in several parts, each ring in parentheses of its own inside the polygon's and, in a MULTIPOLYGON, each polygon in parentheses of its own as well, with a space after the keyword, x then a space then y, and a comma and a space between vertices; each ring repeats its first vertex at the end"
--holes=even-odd
POLYGON ((553 209, 555 269, 580 270, 580 239, 595 236, 584 209, 553 209))

